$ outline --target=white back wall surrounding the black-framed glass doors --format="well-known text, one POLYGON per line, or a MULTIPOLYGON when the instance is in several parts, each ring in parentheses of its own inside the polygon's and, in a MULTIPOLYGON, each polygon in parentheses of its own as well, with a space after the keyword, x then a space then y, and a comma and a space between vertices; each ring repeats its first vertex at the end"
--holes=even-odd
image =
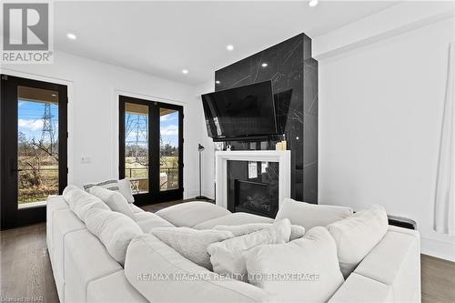
POLYGON ((53 65, 5 65, 2 73, 68 86, 68 182, 76 185, 118 177, 118 94, 184 106, 185 197, 196 196, 194 87, 58 52, 53 65))

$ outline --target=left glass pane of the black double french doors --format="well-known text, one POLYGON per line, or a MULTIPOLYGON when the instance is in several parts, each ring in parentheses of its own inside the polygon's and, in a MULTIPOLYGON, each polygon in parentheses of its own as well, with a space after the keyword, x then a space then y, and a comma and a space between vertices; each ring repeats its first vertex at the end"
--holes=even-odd
POLYGON ((148 192, 148 106, 125 103, 125 177, 133 194, 148 192))

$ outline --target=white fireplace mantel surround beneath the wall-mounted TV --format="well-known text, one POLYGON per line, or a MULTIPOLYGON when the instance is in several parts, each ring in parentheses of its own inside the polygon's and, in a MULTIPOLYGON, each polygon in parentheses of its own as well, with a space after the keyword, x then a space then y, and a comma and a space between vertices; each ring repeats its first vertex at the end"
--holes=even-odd
POLYGON ((227 161, 278 162, 278 207, 285 197, 290 197, 289 150, 236 150, 215 153, 216 201, 227 208, 227 161))

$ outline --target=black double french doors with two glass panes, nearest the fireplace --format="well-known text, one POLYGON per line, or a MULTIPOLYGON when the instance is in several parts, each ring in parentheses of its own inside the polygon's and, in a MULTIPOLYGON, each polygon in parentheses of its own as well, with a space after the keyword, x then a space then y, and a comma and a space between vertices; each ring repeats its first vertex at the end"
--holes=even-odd
POLYGON ((119 177, 136 204, 183 198, 183 107, 119 96, 119 177))

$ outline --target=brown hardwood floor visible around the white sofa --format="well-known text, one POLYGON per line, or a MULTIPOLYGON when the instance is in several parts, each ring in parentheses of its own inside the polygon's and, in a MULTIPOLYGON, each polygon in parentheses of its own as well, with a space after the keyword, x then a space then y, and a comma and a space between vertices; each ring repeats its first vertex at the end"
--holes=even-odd
MULTIPOLYGON (((172 201, 142 208, 155 212, 188 201, 172 201)), ((0 301, 6 298, 10 298, 10 301, 11 298, 30 298, 35 302, 58 302, 45 245, 45 223, 1 231, 0 238, 0 301)), ((455 263, 421 255, 421 272, 422 302, 455 302, 455 263)))

